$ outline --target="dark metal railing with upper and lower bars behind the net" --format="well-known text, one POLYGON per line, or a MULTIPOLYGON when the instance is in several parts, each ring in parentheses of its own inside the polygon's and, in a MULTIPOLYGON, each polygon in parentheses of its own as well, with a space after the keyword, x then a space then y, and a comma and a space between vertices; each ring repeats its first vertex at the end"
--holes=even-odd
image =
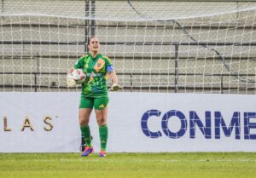
MULTIPOLYGON (((2 44, 60 44, 59 42, 24 42, 24 41, 0 41, 0 43, 2 44)), ((61 43, 62 44, 62 43, 61 43)), ((80 43, 80 42, 69 42, 69 43, 63 43, 63 44, 67 44, 67 45, 84 45, 84 43, 80 43)), ((183 72, 178 72, 178 62, 179 62, 179 47, 180 46, 204 46, 205 48, 207 48, 207 46, 256 46, 256 43, 252 42, 252 43, 177 43, 177 42, 170 42, 170 43, 160 43, 160 42, 154 42, 154 43, 143 43, 143 42, 136 42, 136 43, 127 43, 127 42, 108 42, 108 43, 102 43, 102 45, 172 45, 175 46, 174 49, 174 60, 172 59, 172 61, 174 62, 174 72, 119 72, 118 75, 119 76, 130 76, 130 80, 129 82, 126 81, 126 83, 130 83, 129 85, 125 83, 124 85, 124 89, 130 90, 131 92, 133 91, 133 89, 167 89, 169 90, 173 90, 173 92, 177 93, 178 89, 207 89, 207 86, 189 86, 189 85, 184 85, 179 83, 178 78, 180 76, 212 76, 212 77, 217 77, 218 81, 219 81, 219 87, 211 87, 210 89, 217 89, 220 90, 221 93, 223 93, 224 90, 226 89, 231 89, 230 87, 224 87, 224 77, 237 77, 238 74, 234 74, 234 73, 200 73, 200 72, 196 72, 196 73, 183 73, 183 72), (135 77, 137 76, 170 76, 174 79, 174 84, 166 86, 166 85, 162 85, 161 83, 158 86, 137 86, 136 84, 134 84, 134 80, 135 77)), ((38 59, 39 56, 37 56, 38 59)), ((20 57, 21 58, 21 57, 20 57)), ((191 56, 191 58, 196 59, 195 56, 191 56)), ((218 58, 218 56, 216 56, 216 58, 218 58)), ((171 59, 170 59, 171 60, 171 59)), ((222 59, 224 60, 224 59, 222 59)), ((37 63, 38 64, 38 63, 37 63)), ((39 64, 38 64, 39 65, 39 64)), ((37 66, 37 68, 39 68, 39 66, 37 66)), ((32 89, 34 89, 35 92, 38 91, 39 88, 59 88, 59 89, 67 89, 66 85, 40 85, 40 83, 38 83, 38 78, 40 76, 45 76, 45 75, 58 75, 59 78, 66 78, 67 73, 65 72, 0 72, 0 75, 32 75, 34 80, 33 83, 28 85, 28 84, 23 84, 23 83, 5 83, 5 84, 1 84, 0 83, 0 88, 14 88, 14 87, 30 87, 32 89)), ((239 77, 245 78, 245 77, 251 77, 251 78, 255 78, 255 73, 247 73, 247 74, 239 74, 239 77)), ((253 87, 247 87, 246 89, 253 89, 256 90, 255 88, 255 83, 253 85, 253 87)), ((232 88, 232 89, 241 89, 241 88, 232 88)))

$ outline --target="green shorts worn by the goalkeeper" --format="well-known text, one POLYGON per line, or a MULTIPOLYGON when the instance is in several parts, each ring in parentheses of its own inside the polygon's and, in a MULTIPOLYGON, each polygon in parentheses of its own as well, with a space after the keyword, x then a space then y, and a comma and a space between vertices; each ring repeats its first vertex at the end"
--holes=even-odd
POLYGON ((108 101, 108 96, 92 98, 81 95, 79 108, 92 109, 94 107, 96 110, 102 110, 108 107, 108 101))

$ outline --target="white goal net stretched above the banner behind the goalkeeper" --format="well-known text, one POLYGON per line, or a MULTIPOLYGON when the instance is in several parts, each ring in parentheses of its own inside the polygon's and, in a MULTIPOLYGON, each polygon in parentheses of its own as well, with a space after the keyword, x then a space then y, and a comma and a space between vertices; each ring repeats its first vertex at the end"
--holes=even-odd
POLYGON ((255 94, 256 3, 1 2, 0 91, 68 89, 96 35, 125 92, 255 94))

